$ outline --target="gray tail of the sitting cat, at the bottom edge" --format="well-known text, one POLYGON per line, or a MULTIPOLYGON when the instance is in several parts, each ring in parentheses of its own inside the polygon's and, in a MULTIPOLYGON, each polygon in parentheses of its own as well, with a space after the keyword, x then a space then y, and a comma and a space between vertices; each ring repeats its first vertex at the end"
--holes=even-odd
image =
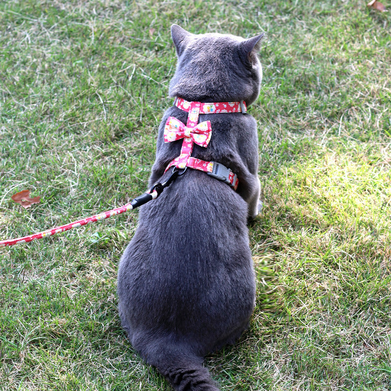
POLYGON ((151 364, 176 391, 220 391, 202 363, 201 357, 183 352, 169 353, 166 351, 159 360, 151 364))

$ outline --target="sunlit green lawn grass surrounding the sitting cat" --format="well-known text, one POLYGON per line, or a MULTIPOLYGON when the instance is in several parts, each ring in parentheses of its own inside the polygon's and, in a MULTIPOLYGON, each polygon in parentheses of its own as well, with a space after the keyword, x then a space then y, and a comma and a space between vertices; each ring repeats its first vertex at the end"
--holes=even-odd
MULTIPOLYGON (((207 358, 213 377, 222 390, 390 390, 390 13, 366 1, 1 2, 1 239, 145 191, 172 104, 172 23, 267 33, 250 108, 257 307, 240 342, 207 358), (22 210, 11 195, 27 188, 42 202, 22 210)), ((0 390, 170 390, 119 324, 136 222, 0 249, 0 390)))

